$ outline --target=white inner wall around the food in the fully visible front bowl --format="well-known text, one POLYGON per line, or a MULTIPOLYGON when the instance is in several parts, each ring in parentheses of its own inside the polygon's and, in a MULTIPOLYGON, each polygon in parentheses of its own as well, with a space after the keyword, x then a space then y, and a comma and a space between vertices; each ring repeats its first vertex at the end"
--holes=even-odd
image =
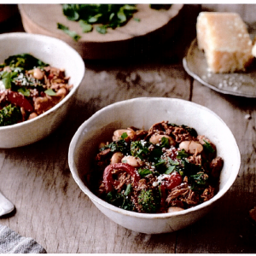
MULTIPOLYGON (((84 174, 91 171, 99 143, 110 141, 116 129, 135 126, 148 130, 151 125, 163 120, 177 125, 189 125, 195 128, 199 135, 205 135, 217 146, 218 156, 224 159, 224 168, 220 176, 218 195, 210 201, 216 201, 224 195, 234 183, 240 168, 240 152, 228 126, 217 114, 193 102, 153 97, 114 103, 102 108, 80 126, 70 144, 69 163, 73 177, 84 193, 93 200, 100 201, 84 184, 84 174)), ((210 201, 197 207, 207 205, 211 203, 210 201)), ((106 207, 107 205, 105 203, 106 207)))

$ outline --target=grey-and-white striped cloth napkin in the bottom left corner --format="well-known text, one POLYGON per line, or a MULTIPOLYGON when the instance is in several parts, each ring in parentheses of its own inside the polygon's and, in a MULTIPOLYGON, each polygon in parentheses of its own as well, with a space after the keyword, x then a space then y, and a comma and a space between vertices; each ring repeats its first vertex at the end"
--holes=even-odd
POLYGON ((46 253, 44 247, 0 224, 0 253, 46 253))

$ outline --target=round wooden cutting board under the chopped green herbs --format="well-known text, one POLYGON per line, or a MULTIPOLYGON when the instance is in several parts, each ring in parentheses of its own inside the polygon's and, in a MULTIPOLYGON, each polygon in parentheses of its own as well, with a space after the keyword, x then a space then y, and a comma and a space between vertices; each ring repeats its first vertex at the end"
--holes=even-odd
POLYGON ((26 32, 60 38, 76 49, 84 59, 110 59, 134 56, 160 47, 160 44, 177 32, 183 16, 183 4, 172 4, 168 10, 155 10, 149 4, 137 4, 137 13, 125 26, 108 29, 100 34, 94 29, 83 33, 79 23, 67 20, 61 4, 20 4, 20 15, 26 32), (57 23, 79 33, 74 41, 57 23))

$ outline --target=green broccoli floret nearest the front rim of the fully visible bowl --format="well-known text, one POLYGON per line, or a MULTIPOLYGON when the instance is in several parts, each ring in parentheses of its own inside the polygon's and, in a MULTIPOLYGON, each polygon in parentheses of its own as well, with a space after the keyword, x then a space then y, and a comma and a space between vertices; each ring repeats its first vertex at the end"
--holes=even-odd
POLYGON ((160 205, 160 196, 154 195, 152 189, 143 189, 137 199, 137 202, 142 207, 143 212, 154 213, 160 205))

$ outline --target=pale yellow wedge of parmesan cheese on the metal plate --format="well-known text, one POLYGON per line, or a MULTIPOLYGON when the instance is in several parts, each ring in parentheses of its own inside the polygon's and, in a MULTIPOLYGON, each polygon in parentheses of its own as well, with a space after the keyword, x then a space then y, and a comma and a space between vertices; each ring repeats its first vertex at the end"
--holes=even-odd
POLYGON ((212 73, 245 71, 253 61, 253 42, 236 13, 201 12, 196 22, 197 43, 212 73))

